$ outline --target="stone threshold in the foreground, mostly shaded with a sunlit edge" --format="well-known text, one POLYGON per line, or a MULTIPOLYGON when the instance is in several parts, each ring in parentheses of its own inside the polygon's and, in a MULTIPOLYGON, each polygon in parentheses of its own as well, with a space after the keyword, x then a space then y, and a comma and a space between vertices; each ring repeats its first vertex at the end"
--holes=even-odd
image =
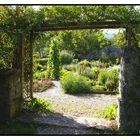
POLYGON ((37 135, 117 135, 105 120, 65 116, 60 113, 22 112, 19 122, 35 124, 37 135))

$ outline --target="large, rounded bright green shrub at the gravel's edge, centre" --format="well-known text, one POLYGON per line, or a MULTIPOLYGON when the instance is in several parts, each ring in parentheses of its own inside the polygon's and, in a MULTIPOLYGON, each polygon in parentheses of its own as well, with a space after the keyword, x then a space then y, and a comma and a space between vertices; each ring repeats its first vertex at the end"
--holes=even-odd
POLYGON ((63 75, 60 82, 64 91, 69 94, 87 93, 92 90, 88 78, 71 72, 63 75))

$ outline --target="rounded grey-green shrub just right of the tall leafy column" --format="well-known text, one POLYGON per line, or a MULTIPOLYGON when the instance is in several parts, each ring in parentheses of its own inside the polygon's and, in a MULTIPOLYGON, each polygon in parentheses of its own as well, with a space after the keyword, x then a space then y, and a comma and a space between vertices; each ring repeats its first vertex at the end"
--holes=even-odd
POLYGON ((62 50, 60 52, 60 59, 61 63, 64 64, 70 64, 74 58, 74 54, 71 51, 62 50))

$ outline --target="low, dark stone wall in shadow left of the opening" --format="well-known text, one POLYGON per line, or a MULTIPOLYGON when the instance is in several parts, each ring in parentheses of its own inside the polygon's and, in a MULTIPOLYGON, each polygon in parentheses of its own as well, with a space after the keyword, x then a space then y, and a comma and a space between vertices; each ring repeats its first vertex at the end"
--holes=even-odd
POLYGON ((15 117, 21 111, 21 84, 18 71, 0 72, 0 122, 15 117))

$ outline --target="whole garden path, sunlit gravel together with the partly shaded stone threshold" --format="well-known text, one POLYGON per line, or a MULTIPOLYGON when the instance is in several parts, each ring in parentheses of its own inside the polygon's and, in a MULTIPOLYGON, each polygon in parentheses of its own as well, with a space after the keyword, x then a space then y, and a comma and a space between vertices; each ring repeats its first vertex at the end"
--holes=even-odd
POLYGON ((60 83, 53 81, 52 88, 34 93, 54 105, 55 111, 46 113, 23 112, 19 121, 37 124, 37 134, 45 135, 104 135, 116 133, 116 121, 93 118, 96 109, 117 102, 117 96, 104 94, 64 94, 60 83), (92 114, 92 115, 91 115, 92 114))

